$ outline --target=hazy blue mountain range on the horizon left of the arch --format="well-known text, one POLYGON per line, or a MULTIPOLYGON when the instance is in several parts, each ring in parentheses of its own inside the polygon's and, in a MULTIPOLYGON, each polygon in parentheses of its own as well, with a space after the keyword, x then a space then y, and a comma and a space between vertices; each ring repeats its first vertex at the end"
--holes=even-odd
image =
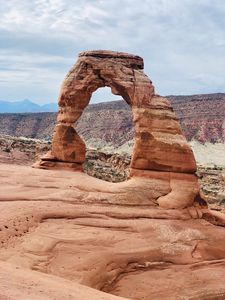
POLYGON ((56 112, 57 109, 57 103, 39 105, 28 99, 14 102, 0 100, 0 113, 56 112))

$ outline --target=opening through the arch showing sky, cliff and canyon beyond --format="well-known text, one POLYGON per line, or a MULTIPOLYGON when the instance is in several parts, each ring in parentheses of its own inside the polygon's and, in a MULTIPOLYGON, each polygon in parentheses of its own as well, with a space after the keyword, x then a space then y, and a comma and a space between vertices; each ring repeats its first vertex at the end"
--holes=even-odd
POLYGON ((110 87, 98 88, 75 122, 86 145, 84 172, 111 182, 126 181, 133 148, 131 107, 110 87))

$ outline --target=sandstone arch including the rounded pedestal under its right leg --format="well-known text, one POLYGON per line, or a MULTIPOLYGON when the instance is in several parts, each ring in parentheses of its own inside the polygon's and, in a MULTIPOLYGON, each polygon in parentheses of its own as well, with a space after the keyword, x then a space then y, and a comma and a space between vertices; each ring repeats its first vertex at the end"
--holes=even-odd
MULTIPOLYGON (((164 208, 192 207, 199 198, 193 152, 170 102, 155 94, 143 68, 141 57, 127 53, 102 50, 80 53, 61 87, 52 150, 35 167, 82 171, 86 149, 74 123, 92 93, 108 86, 131 106, 135 127, 131 179, 122 185, 115 184, 114 194, 107 195, 108 201, 164 208)), ((91 198, 100 201, 101 196, 91 192, 91 198)), ((193 214, 195 217, 195 210, 193 214)))

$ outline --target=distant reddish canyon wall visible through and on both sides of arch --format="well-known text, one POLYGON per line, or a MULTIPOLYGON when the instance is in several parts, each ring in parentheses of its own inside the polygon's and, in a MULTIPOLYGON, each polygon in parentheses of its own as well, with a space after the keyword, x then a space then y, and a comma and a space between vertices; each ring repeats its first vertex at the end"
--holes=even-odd
MULTIPOLYGON (((225 94, 168 96, 188 141, 224 143, 225 94)), ((0 134, 50 140, 56 113, 0 114, 0 134)), ((125 101, 91 104, 77 123, 88 146, 131 145, 133 122, 125 101)))

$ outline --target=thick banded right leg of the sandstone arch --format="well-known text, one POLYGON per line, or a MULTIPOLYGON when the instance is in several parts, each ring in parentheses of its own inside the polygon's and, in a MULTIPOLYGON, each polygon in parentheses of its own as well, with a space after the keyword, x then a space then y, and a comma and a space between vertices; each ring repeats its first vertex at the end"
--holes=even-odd
POLYGON ((131 167, 193 173, 196 163, 167 99, 153 96, 148 107, 133 108, 135 144, 131 167))

